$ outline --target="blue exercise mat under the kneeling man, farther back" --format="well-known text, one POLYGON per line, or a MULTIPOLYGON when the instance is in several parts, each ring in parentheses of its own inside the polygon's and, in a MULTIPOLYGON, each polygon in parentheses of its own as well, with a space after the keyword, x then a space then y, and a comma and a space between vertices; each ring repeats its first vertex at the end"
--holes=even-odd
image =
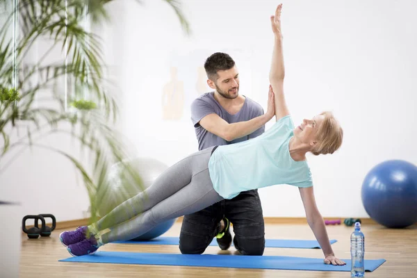
MULTIPOLYGON (((330 244, 336 243, 337 240, 330 240, 330 244)), ((179 245, 179 238, 177 237, 160 237, 152 240, 126 240, 114 241, 113 243, 124 244, 156 244, 156 245, 179 245)), ((232 243, 233 245, 233 243, 232 243)), ((210 246, 218 246, 215 238, 210 243, 210 246)), ((290 240, 290 239, 266 239, 265 247, 275 248, 319 248, 317 240, 290 240)))

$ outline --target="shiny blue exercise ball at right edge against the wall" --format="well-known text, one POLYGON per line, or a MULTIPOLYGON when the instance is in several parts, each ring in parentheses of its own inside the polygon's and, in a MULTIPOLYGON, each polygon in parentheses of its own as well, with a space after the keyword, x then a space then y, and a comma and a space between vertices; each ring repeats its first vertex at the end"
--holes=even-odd
POLYGON ((363 180, 366 213, 385 227, 404 228, 417 222, 417 167, 407 161, 384 161, 363 180))

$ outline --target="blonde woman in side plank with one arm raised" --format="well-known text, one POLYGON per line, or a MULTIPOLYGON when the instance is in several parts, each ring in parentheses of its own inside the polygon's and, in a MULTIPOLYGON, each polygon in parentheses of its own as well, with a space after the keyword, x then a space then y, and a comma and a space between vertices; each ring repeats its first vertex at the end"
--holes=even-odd
POLYGON ((306 218, 325 255, 325 263, 345 265, 329 244, 325 223, 313 194, 306 153, 332 154, 341 146, 343 130, 332 113, 324 112, 293 126, 284 99, 280 4, 271 17, 275 47, 265 115, 277 122, 263 135, 244 142, 196 152, 163 172, 144 192, 126 200, 98 222, 65 231, 60 240, 73 256, 92 254, 101 245, 130 240, 158 223, 199 211, 245 190, 289 184, 300 190, 306 218), (117 220, 108 224, 107 220, 117 220), (89 235, 89 236, 87 236, 89 235))

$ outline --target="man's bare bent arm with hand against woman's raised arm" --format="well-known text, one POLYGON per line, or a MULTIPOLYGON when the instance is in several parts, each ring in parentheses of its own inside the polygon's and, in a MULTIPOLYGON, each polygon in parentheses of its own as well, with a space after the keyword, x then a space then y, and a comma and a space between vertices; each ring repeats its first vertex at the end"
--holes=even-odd
POLYGON ((208 114, 199 121, 199 124, 208 132, 211 132, 224 140, 232 141, 243 136, 247 136, 261 126, 269 122, 275 115, 274 93, 271 88, 268 93, 268 109, 265 114, 254 117, 252 120, 245 122, 234 122, 229 124, 223 120, 219 115, 212 113, 208 114))

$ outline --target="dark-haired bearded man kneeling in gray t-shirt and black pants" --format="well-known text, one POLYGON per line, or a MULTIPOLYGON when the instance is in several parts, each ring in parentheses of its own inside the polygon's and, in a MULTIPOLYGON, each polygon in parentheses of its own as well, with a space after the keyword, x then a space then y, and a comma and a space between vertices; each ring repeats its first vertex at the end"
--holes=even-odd
MULTIPOLYGON (((191 120, 195 127, 199 150, 216 145, 250 140, 265 131, 271 117, 252 99, 239 95, 238 69, 224 53, 207 58, 204 69, 208 92, 193 101, 191 120)), ((214 237, 222 250, 231 245, 230 223, 233 224, 236 250, 245 255, 262 255, 265 229, 261 200, 257 190, 250 190, 234 199, 224 199, 202 211, 185 215, 179 248, 183 254, 202 254, 214 237)))

